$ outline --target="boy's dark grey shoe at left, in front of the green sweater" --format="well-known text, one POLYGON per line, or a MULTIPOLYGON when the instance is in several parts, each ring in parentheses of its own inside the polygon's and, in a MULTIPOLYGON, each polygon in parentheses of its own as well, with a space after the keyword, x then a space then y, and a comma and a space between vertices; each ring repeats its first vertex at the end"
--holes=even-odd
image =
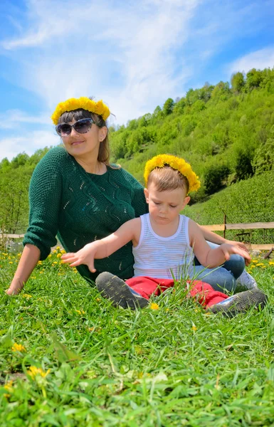
POLYGON ((149 303, 146 298, 130 288, 124 280, 107 271, 100 273, 95 283, 102 297, 111 300, 114 307, 130 307, 135 310, 135 308, 143 308, 149 303))

